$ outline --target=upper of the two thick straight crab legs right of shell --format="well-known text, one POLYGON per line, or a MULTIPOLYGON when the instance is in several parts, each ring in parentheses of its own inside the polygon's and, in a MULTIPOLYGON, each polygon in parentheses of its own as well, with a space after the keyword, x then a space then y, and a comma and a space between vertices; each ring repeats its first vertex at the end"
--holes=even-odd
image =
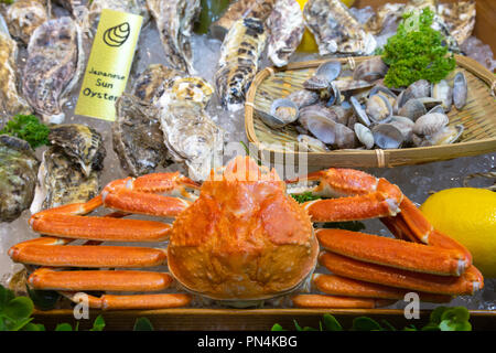
POLYGON ((319 229, 327 250, 367 263, 418 272, 460 276, 471 265, 463 253, 343 229, 319 229))

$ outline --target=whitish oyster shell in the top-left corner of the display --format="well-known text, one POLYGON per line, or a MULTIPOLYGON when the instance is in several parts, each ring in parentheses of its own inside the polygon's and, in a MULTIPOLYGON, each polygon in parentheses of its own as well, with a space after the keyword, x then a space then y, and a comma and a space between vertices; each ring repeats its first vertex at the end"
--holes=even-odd
POLYGON ((17 0, 7 10, 10 33, 28 44, 34 30, 48 20, 46 0, 17 0))

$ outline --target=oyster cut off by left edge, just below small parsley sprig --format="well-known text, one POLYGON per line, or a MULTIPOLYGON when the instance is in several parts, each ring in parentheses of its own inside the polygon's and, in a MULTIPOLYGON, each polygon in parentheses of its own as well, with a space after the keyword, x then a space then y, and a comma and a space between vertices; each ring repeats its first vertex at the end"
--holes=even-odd
POLYGON ((0 222, 15 220, 30 206, 39 165, 26 141, 0 135, 0 222))

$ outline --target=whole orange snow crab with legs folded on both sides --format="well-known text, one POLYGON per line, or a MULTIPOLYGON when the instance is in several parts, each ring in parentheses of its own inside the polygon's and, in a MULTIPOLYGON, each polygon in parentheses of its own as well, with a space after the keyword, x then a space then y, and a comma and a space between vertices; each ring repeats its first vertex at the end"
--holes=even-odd
POLYGON ((29 284, 73 300, 80 291, 128 292, 88 295, 99 309, 185 307, 195 297, 231 306, 281 297, 298 308, 375 308, 410 291, 443 302, 483 287, 471 254, 433 229, 398 186, 349 169, 284 182, 237 157, 202 185, 177 173, 117 180, 87 203, 42 211, 30 223, 45 236, 9 250, 14 261, 39 266, 29 284), (301 192, 303 180, 312 181, 305 190, 337 199, 299 204, 288 184, 301 192), (101 205, 115 211, 86 216, 101 205), (123 217, 129 214, 175 221, 123 217), (373 217, 397 239, 313 227, 373 217), (76 239, 86 243, 69 245, 76 239), (163 240, 166 248, 99 245, 163 240), (169 272, 130 270, 163 264, 169 272), (314 271, 317 264, 332 275, 314 271), (157 293, 173 284, 175 292, 157 293), (320 293, 305 292, 305 284, 320 293))

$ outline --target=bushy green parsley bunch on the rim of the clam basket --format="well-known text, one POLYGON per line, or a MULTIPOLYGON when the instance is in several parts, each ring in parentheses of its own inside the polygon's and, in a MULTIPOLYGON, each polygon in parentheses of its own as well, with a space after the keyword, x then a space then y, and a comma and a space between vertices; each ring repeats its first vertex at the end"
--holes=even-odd
POLYGON ((405 87, 419 79, 438 83, 455 68, 453 54, 443 45, 444 36, 433 29, 434 13, 403 14, 397 33, 388 39, 382 61, 389 65, 384 83, 389 87, 405 87))

